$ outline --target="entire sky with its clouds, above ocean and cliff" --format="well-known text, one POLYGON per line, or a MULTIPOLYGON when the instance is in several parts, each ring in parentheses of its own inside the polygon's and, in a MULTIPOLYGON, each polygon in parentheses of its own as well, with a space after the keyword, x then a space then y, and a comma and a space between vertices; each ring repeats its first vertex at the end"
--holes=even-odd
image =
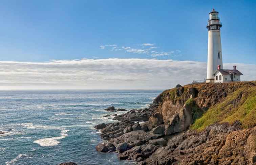
POLYGON ((224 68, 256 80, 256 1, 1 1, 0 89, 167 89, 206 78, 208 13, 224 68))

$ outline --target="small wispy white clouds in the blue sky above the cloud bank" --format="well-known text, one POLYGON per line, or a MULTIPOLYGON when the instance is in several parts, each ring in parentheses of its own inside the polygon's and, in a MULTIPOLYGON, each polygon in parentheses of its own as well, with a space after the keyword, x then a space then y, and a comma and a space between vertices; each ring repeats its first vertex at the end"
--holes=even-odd
POLYGON ((182 56, 180 54, 180 50, 176 51, 157 51, 158 47, 155 46, 156 44, 150 44, 150 43, 144 43, 139 45, 140 48, 132 48, 132 47, 118 47, 117 45, 101 45, 101 49, 105 49, 107 46, 109 46, 109 51, 124 51, 127 53, 136 53, 136 54, 146 54, 150 55, 151 57, 160 57, 160 56, 172 56, 172 57, 177 57, 177 56, 182 56))

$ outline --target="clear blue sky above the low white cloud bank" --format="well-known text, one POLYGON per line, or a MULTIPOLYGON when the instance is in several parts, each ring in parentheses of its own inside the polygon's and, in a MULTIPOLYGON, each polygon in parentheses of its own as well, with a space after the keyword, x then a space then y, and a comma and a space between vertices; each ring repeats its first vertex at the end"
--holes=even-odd
POLYGON ((223 62, 256 64, 256 1, 2 1, 0 60, 157 58, 207 61, 208 12, 223 24, 223 62), (110 51, 101 45, 158 52, 110 51))

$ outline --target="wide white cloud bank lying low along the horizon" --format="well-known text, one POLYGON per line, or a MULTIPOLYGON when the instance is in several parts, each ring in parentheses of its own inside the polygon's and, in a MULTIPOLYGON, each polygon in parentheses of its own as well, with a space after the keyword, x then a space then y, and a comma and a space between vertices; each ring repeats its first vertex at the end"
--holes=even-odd
MULTIPOLYGON (((256 79, 256 65, 226 63, 242 80, 256 79)), ((157 59, 0 61, 0 89, 167 89, 206 77, 206 62, 157 59)))

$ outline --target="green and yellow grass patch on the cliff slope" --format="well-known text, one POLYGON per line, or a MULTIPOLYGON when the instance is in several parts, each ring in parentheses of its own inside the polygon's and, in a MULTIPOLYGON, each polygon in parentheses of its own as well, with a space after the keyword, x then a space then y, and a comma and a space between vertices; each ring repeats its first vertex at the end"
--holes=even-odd
POLYGON ((241 121, 243 128, 256 125, 256 87, 242 87, 195 120, 190 129, 202 131, 216 122, 241 121), (242 93, 241 99, 239 95, 242 93))

